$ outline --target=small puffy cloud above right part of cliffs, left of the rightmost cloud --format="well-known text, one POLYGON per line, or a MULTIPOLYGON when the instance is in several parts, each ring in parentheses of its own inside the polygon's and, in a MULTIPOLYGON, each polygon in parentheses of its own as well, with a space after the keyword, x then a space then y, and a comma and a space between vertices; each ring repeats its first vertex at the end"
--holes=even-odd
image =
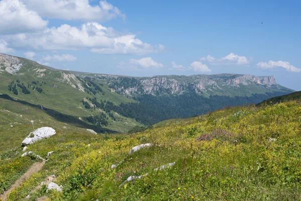
POLYGON ((239 56, 234 53, 230 53, 223 58, 215 58, 211 55, 206 57, 201 57, 201 61, 207 61, 211 65, 236 65, 236 66, 246 66, 250 64, 250 61, 245 56, 239 56))

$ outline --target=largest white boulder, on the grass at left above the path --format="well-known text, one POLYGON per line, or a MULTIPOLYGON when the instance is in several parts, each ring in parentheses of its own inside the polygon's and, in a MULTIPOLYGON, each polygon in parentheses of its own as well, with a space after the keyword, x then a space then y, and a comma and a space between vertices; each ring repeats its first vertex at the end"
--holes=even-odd
POLYGON ((34 132, 31 132, 27 138, 25 138, 22 142, 22 146, 26 146, 29 144, 33 144, 34 142, 38 140, 42 140, 45 138, 49 138, 50 136, 53 136, 56 134, 56 131, 53 128, 50 127, 42 127, 34 132))

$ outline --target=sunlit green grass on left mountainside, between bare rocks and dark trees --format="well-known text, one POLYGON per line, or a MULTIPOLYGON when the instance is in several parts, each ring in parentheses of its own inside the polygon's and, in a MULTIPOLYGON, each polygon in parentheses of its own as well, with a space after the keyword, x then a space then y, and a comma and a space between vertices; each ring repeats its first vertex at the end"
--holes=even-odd
MULTIPOLYGON (((37 69, 45 69, 45 67, 27 59, 19 59, 21 59, 23 67, 17 74, 11 75, 7 72, 0 73, 0 93, 9 94, 15 99, 25 100, 26 102, 31 104, 41 104, 46 108, 53 109, 60 113, 81 117, 83 120, 86 116, 89 116, 93 113, 91 112, 91 110, 85 109, 84 106, 80 103, 81 100, 85 97, 93 96, 72 87, 70 84, 67 84, 66 80, 62 81, 62 71, 47 68, 46 71, 37 73, 37 69), (44 74, 43 77, 40 77, 41 73, 44 74), (15 83, 16 80, 20 80, 20 82, 23 82, 26 86, 28 84, 31 84, 32 87, 41 87, 43 89, 43 92, 39 93, 36 90, 34 91, 31 87, 29 89, 31 93, 24 94, 22 93, 21 88, 17 87, 19 94, 15 95, 8 90, 8 85, 12 82, 12 80, 15 80, 15 83), (40 80, 43 82, 39 82, 37 85, 32 83, 32 81, 40 80), (44 84, 44 82, 46 82, 46 84, 44 84), (53 87, 53 85, 56 85, 57 87, 53 87)), ((104 91, 104 95, 100 93, 97 93, 95 95, 95 97, 97 97, 97 100, 99 101, 101 99, 109 100, 114 104, 135 102, 133 99, 126 98, 125 96, 119 95, 115 92, 111 92, 109 90, 108 84, 106 83, 104 83, 102 89, 104 91)), ((125 117, 121 117, 121 120, 117 122, 113 122, 113 120, 109 118, 109 123, 110 125, 105 128, 117 132, 126 132, 131 127, 140 125, 135 120, 125 117)))

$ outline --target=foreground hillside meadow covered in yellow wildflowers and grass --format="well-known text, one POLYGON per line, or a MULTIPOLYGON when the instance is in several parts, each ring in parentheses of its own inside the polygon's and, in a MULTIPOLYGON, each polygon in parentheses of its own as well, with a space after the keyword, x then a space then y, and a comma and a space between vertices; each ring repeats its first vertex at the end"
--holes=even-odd
MULTIPOLYGON (((133 135, 91 135, 73 127, 56 128, 57 135, 29 146, 29 151, 43 157, 49 151, 54 153, 39 173, 12 191, 10 200, 23 200, 28 194, 29 200, 42 195, 51 200, 301 198, 300 100, 228 108, 166 121, 133 135), (142 143, 156 146, 128 155, 131 147, 142 143), (121 165, 111 169, 112 164, 122 160, 121 165), (171 162, 176 162, 172 168, 154 171, 171 162), (147 176, 118 187, 128 176, 147 172, 147 176), (58 176, 56 183, 64 186, 63 192, 34 190, 52 174, 58 176)), ((21 142, 21 136, 19 139, 21 142)), ((16 162, 21 160, 20 152, 21 147, 3 164, 19 167, 16 162)), ((30 157, 22 160, 31 161, 30 157)), ((0 175, 8 178, 14 175, 12 171, 0 175)))

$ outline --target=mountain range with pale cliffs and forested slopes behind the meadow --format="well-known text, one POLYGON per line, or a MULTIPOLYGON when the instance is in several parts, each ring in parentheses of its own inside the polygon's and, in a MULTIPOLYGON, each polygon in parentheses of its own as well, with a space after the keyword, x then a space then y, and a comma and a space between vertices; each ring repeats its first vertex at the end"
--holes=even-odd
POLYGON ((117 132, 290 92, 273 76, 129 77, 58 70, 0 54, 0 93, 117 132))

